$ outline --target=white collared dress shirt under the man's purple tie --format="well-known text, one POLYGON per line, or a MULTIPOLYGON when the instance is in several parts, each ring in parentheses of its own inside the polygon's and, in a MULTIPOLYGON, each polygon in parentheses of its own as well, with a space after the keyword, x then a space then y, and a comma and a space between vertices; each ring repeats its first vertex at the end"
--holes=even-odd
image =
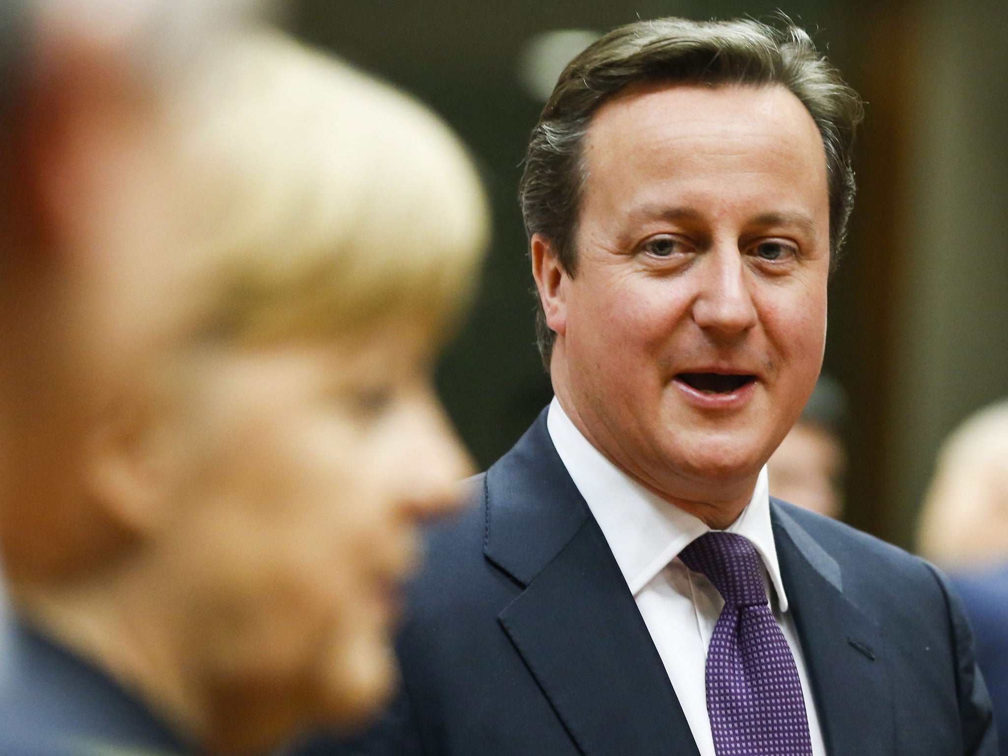
MULTIPOLYGON (((705 671, 711 635, 725 602, 707 578, 690 572, 678 559, 679 551, 711 528, 609 462, 582 435, 555 398, 549 405, 546 427, 637 602, 701 756, 716 756, 705 671)), ((728 531, 748 538, 762 557, 770 606, 801 678, 812 754, 826 756, 808 673, 780 580, 766 468, 760 472, 749 504, 728 531)))

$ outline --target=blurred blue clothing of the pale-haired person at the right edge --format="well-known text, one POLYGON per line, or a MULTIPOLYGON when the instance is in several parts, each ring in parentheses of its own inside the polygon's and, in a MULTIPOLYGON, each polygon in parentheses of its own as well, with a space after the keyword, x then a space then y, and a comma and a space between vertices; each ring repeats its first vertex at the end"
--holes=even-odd
POLYGON ((1008 564, 955 576, 953 583, 977 639, 977 664, 994 703, 1001 756, 1008 756, 1008 564))

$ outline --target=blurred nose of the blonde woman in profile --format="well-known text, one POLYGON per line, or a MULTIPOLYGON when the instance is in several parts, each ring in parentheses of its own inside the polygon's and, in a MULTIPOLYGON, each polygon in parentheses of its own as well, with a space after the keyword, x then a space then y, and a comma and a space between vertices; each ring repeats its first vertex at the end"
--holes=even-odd
POLYGON ((412 475, 404 501, 409 514, 425 519, 448 514, 463 504, 459 482, 473 475, 476 466, 439 401, 431 399, 417 422, 407 463, 412 475))

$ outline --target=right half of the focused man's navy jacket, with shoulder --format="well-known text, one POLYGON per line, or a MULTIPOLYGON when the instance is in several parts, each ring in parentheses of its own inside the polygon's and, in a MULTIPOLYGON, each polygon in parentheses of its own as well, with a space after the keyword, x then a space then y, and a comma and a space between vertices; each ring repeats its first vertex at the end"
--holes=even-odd
MULTIPOLYGON (((997 753, 973 637, 948 578, 843 523, 776 500, 771 511, 816 701, 826 729, 835 731, 828 738, 836 740, 847 727, 864 733, 863 727, 853 729, 850 716, 858 712, 860 696, 861 702, 874 699, 876 722, 883 702, 884 711, 891 711, 892 752, 997 753), (850 648, 860 658, 851 657, 850 648), (837 665, 831 654, 845 656, 849 665, 837 665)), ((881 730, 871 737, 881 737, 881 730)))

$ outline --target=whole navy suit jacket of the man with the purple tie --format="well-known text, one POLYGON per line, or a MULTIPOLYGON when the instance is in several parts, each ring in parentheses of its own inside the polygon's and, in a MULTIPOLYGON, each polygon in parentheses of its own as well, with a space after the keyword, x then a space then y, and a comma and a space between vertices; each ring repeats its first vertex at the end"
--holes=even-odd
MULTIPOLYGON (((353 743, 306 753, 698 756, 612 551, 545 413, 432 532, 397 643, 402 690, 353 743)), ((771 502, 830 756, 996 756, 947 580, 850 527, 771 502)))

